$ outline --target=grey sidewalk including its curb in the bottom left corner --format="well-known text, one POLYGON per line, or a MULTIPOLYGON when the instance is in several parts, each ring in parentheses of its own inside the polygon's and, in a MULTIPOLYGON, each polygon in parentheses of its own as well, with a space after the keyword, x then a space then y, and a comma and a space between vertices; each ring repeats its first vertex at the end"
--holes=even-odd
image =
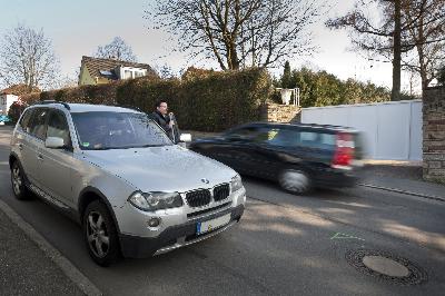
POLYGON ((0 199, 0 295, 101 293, 0 199))

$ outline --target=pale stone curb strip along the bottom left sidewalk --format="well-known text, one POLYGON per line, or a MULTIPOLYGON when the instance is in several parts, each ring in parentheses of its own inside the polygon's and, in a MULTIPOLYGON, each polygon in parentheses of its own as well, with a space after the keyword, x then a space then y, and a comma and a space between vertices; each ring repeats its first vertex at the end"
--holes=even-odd
POLYGON ((76 266, 60 254, 43 236, 36 231, 31 225, 24 221, 11 207, 0 200, 0 210, 16 224, 43 253, 75 283, 86 295, 99 296, 102 293, 92 284, 76 266))

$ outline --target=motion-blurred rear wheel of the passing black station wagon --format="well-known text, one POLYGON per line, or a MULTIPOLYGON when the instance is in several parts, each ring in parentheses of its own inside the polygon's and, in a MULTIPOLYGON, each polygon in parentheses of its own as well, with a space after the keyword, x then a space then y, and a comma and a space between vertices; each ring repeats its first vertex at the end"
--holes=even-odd
POLYGON ((283 189, 296 195, 304 195, 312 190, 310 178, 303 170, 286 169, 279 175, 278 182, 283 189))

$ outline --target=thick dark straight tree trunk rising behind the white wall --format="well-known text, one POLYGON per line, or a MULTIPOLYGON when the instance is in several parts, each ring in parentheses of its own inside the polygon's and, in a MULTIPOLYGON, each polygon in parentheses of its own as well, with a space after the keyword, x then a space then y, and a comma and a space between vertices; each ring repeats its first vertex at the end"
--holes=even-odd
POLYGON ((400 0, 394 1, 394 58, 393 58, 393 90, 390 100, 397 101, 400 96, 400 69, 402 69, 402 41, 400 41, 400 0))

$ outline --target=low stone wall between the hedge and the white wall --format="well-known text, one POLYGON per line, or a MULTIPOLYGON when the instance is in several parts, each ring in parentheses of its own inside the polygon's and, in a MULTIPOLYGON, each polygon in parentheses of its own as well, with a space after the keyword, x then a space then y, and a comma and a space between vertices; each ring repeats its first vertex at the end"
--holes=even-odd
POLYGON ((261 121, 300 121, 301 108, 294 105, 266 103, 261 107, 261 121))

